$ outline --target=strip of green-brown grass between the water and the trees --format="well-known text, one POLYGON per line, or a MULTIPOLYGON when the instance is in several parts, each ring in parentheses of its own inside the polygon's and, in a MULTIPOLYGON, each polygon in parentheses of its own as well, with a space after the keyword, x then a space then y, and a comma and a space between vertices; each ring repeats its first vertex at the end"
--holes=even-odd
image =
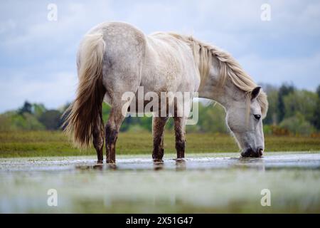
MULTIPOLYGON (((211 133, 187 134, 186 153, 237 152, 238 146, 230 135, 211 133)), ((166 153, 174 153, 174 133, 165 133, 166 153)), ((269 136, 266 151, 319 151, 320 138, 269 136)), ((120 133, 117 155, 141 155, 152 151, 151 133, 120 133)), ((95 150, 78 150, 60 131, 26 131, 0 133, 0 157, 95 155, 95 150)))

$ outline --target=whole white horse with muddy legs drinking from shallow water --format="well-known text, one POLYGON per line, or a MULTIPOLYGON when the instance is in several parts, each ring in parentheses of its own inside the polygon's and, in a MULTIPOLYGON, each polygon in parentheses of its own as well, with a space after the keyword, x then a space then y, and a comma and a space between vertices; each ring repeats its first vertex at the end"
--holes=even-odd
MULTIPOLYGON (((217 101, 225 108, 227 125, 242 149, 241 155, 262 156, 267 95, 232 56, 215 46, 176 33, 146 36, 132 25, 109 22, 85 35, 77 64, 78 91, 68 110, 65 131, 79 147, 87 147, 92 140, 98 162, 103 162, 104 137, 107 162, 115 162, 117 135, 125 118, 122 110, 129 109, 122 95, 137 93, 139 86, 143 86, 144 93, 198 92, 200 98, 217 101), (112 107, 105 130, 103 101, 112 107)), ((174 106, 174 110, 181 106, 174 100, 164 103, 166 107, 174 106)), ((153 118, 154 161, 161 161, 164 155, 164 125, 168 118, 169 113, 153 118)), ((185 125, 186 115, 174 115, 178 159, 184 157, 185 125)))

